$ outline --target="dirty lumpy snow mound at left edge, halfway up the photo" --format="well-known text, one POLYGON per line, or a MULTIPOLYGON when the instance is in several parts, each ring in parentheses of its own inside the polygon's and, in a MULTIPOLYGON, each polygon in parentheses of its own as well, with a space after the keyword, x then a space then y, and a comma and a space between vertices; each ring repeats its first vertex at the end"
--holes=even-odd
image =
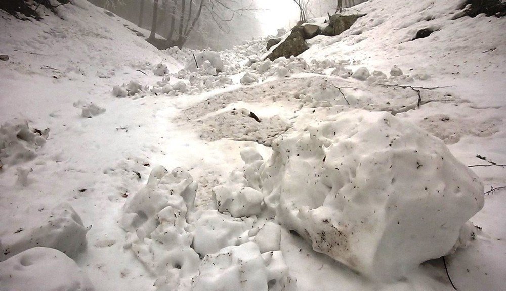
POLYGON ((14 119, 0 126, 0 168, 15 165, 36 157, 35 151, 44 146, 49 128, 31 129, 26 120, 14 119))

